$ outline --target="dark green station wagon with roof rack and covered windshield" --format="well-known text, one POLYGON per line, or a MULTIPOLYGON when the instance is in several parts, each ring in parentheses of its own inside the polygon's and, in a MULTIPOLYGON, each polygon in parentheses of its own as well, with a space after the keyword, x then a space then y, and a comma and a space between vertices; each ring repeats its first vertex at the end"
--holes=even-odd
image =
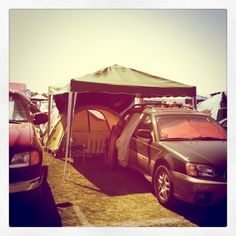
POLYGON ((226 132, 193 109, 131 108, 112 129, 106 163, 143 174, 167 207, 176 199, 211 205, 226 198, 226 132))

